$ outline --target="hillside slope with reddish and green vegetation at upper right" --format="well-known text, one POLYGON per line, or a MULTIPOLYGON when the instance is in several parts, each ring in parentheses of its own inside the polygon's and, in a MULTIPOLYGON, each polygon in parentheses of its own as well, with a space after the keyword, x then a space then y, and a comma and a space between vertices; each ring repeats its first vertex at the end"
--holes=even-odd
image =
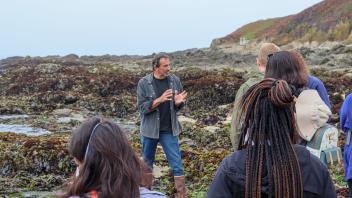
POLYGON ((240 38, 272 41, 285 45, 292 41, 352 43, 352 1, 325 0, 286 17, 259 20, 231 34, 214 39, 212 46, 239 42, 240 38))

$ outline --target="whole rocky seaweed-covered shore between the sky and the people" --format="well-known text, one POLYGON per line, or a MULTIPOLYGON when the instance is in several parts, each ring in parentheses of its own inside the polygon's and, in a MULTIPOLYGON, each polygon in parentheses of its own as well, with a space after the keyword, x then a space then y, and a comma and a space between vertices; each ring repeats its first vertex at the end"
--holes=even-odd
MULTIPOLYGON (((344 96, 352 91, 352 46, 300 46, 297 50, 310 72, 324 81, 333 106, 332 121, 337 125, 344 96)), ((170 56, 174 72, 189 92, 186 108, 180 112, 187 188, 190 197, 204 197, 219 163, 231 153, 227 135, 231 103, 255 68, 255 51, 206 48, 170 56)), ((68 55, 1 60, 0 116, 28 117, 0 119, 0 124, 25 124, 51 133, 33 137, 0 132, 0 195, 24 197, 23 191, 60 189, 75 169, 66 149, 70 132, 90 116, 108 117, 124 125, 139 152, 136 85, 150 72, 151 58, 68 55)), ((155 189, 171 195, 174 189, 162 152, 157 161, 155 189)), ((330 170, 344 195, 342 167, 330 170)))

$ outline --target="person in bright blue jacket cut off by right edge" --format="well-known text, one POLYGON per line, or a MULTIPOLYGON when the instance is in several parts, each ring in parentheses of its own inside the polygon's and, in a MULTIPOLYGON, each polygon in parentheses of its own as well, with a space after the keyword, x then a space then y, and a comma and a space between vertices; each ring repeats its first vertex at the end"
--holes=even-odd
POLYGON ((352 93, 349 94, 340 110, 340 127, 346 133, 343 165, 345 169, 345 181, 348 184, 349 197, 352 197, 352 93))

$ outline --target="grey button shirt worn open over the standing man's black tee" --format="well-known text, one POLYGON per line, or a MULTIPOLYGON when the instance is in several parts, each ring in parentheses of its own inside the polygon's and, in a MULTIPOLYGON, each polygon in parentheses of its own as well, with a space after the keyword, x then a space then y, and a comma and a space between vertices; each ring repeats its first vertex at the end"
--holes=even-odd
MULTIPOLYGON (((167 76, 169 81, 169 87, 173 92, 181 93, 183 87, 180 79, 174 74, 167 76)), ((141 134, 145 137, 159 139, 160 129, 160 112, 158 108, 151 110, 153 100, 157 98, 154 87, 153 87, 153 73, 143 77, 138 82, 137 86, 137 107, 140 113, 141 134)), ((177 136, 181 133, 181 125, 177 120, 177 111, 180 110, 184 105, 183 103, 178 107, 175 106, 174 98, 170 102, 170 114, 171 114, 171 125, 172 134, 177 136)))

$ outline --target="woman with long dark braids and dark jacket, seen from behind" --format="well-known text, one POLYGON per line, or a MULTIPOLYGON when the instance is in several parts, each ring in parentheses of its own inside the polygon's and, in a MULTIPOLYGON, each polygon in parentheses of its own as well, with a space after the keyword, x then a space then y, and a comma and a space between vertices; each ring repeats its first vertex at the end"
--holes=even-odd
POLYGON ((245 93, 239 150, 222 161, 207 197, 336 197, 327 168, 295 144, 294 92, 266 78, 245 93))

